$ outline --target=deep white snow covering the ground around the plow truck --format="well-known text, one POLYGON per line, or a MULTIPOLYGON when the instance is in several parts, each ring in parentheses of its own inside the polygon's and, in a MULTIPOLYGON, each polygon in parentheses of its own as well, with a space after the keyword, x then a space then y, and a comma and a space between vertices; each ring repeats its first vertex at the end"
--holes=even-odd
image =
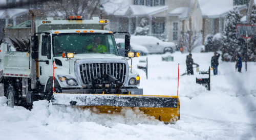
MULTIPOLYGON (((177 95, 180 75, 186 70, 187 54, 175 52, 148 57, 148 79, 142 70, 140 88, 144 95, 177 95), (161 57, 174 56, 174 62, 161 57)), ((207 70, 213 53, 193 53, 200 70, 207 70)), ((180 76, 181 117, 175 125, 148 118, 138 109, 116 114, 97 114, 79 108, 53 106, 46 100, 34 102, 32 111, 10 108, 0 97, 0 139, 256 139, 256 63, 245 72, 235 72, 235 63, 222 62, 217 76, 211 71, 211 91, 196 83, 199 75, 180 76), (48 107, 49 105, 49 107, 48 107)))

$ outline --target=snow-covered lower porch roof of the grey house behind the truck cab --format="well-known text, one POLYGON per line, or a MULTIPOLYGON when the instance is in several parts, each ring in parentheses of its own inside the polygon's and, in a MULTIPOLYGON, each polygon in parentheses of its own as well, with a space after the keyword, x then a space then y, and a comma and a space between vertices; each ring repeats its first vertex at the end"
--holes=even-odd
POLYGON ((126 14, 131 11, 133 15, 153 15, 160 12, 168 10, 168 6, 141 6, 141 5, 131 5, 129 9, 126 11, 126 14))

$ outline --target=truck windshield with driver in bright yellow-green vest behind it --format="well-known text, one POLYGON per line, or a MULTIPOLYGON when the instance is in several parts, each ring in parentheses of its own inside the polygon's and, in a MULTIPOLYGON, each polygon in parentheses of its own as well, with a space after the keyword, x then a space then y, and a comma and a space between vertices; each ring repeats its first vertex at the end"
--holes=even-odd
POLYGON ((53 52, 54 57, 61 57, 63 52, 118 55, 114 36, 108 33, 53 34, 53 52))

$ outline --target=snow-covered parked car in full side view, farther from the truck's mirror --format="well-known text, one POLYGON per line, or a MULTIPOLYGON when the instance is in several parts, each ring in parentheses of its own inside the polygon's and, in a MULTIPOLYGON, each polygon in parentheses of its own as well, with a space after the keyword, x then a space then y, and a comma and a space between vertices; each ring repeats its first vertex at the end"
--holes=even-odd
POLYGON ((132 36, 131 42, 145 46, 149 53, 173 53, 176 47, 174 42, 164 42, 153 36, 132 36))

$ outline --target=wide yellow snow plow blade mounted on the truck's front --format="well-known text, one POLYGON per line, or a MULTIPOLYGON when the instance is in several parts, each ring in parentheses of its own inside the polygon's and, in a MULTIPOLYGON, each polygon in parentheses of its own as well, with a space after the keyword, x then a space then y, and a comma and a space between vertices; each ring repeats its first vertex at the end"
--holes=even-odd
POLYGON ((103 114, 120 112, 122 107, 139 107, 144 114, 165 123, 180 120, 179 96, 54 93, 52 104, 96 107, 103 114))

